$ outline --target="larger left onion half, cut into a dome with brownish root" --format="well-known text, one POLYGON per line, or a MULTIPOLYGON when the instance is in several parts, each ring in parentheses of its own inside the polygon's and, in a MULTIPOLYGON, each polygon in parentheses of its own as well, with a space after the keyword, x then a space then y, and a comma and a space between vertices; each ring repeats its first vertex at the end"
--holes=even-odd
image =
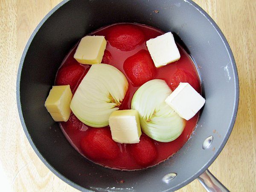
POLYGON ((70 103, 75 116, 91 127, 105 127, 109 116, 119 109, 128 81, 116 67, 93 64, 79 84, 70 103))

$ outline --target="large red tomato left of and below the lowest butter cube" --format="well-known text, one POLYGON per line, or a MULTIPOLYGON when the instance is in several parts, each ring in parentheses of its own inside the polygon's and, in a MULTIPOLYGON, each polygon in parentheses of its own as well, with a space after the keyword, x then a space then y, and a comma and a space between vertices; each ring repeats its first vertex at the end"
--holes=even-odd
POLYGON ((109 128, 89 128, 80 145, 84 154, 92 160, 113 160, 119 154, 119 147, 112 140, 109 128))

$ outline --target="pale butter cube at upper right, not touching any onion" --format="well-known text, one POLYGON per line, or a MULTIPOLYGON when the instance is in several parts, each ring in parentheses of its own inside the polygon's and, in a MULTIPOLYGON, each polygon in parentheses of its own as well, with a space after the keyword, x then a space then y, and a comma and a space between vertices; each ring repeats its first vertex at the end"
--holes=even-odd
POLYGON ((172 32, 146 41, 148 51, 156 67, 162 67, 180 59, 172 32))

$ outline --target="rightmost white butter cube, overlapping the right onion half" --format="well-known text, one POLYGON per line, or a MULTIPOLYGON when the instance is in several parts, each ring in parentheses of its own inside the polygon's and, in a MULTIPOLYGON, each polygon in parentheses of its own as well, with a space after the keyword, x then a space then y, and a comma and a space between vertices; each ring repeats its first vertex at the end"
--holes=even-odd
POLYGON ((180 83, 165 102, 180 117, 189 120, 204 106, 205 99, 189 83, 180 83))

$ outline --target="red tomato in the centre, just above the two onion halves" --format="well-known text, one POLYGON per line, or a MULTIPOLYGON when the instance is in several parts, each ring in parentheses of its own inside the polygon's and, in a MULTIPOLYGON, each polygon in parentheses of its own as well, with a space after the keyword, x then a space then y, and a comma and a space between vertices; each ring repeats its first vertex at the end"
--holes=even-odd
POLYGON ((156 68, 148 51, 140 50, 124 62, 124 70, 134 86, 140 86, 154 78, 156 68))

